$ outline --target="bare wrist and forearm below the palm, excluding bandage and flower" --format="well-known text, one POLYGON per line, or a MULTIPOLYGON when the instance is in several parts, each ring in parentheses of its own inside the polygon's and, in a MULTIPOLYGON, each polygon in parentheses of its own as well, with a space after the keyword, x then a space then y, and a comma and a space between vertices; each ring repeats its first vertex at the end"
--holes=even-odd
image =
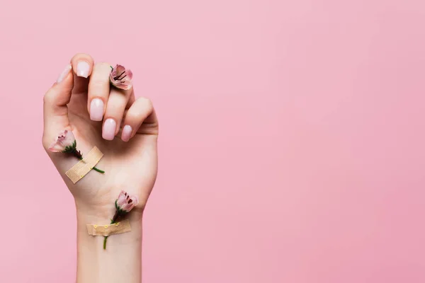
POLYGON ((142 279, 142 212, 126 216, 132 231, 108 237, 103 250, 103 237, 90 236, 86 224, 109 224, 110 209, 90 212, 77 208, 77 283, 128 282, 142 279))

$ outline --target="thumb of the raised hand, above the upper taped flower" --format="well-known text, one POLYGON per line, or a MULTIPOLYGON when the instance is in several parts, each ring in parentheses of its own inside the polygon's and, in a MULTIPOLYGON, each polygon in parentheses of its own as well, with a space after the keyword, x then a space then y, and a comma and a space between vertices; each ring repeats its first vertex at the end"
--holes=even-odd
POLYGON ((53 137, 69 127, 67 104, 71 100, 71 92, 74 87, 74 78, 71 69, 71 64, 68 64, 57 78, 56 83, 44 96, 44 133, 42 144, 46 149, 50 146, 53 137))

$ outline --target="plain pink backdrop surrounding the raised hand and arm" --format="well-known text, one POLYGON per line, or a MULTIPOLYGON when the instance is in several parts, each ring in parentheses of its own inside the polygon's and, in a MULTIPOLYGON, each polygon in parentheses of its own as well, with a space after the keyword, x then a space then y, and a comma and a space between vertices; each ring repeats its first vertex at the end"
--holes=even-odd
POLYGON ((425 282, 423 0, 1 2, 0 282, 74 282, 40 140, 76 52, 157 108, 144 282, 425 282))

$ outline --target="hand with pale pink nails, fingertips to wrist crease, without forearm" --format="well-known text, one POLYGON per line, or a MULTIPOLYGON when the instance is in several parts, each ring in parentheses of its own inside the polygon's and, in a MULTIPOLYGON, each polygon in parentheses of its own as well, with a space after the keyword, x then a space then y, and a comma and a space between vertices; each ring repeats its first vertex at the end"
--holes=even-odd
MULTIPOLYGON (((147 98, 135 99, 134 88, 110 85, 111 64, 76 54, 44 97, 42 144, 74 195, 77 212, 108 221, 121 190, 137 195, 141 214, 157 177, 158 121, 147 98), (72 69, 71 69, 72 68, 72 69), (94 146, 104 156, 75 185, 64 173, 79 160, 48 150, 64 129, 71 130, 83 156, 94 146)), ((132 214, 135 214, 132 212, 132 214)), ((94 219, 94 220, 95 220, 94 219)))

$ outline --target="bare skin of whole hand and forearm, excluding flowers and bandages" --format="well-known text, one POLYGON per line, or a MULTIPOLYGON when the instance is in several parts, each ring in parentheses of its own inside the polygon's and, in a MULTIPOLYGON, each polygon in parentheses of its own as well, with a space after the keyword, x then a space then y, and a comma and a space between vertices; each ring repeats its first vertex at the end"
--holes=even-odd
POLYGON ((76 54, 44 96, 42 144, 77 209, 79 283, 141 282, 142 215, 157 178, 158 120, 152 102, 135 99, 134 88, 110 86, 110 71, 111 64, 76 54), (94 146, 103 152, 96 167, 105 174, 90 171, 75 185, 69 180, 64 173, 77 159, 48 150, 64 129, 74 133, 83 156, 94 146), (103 250, 103 237, 90 236, 86 224, 109 224, 121 190, 139 199, 127 215, 132 231, 108 237, 103 250))

